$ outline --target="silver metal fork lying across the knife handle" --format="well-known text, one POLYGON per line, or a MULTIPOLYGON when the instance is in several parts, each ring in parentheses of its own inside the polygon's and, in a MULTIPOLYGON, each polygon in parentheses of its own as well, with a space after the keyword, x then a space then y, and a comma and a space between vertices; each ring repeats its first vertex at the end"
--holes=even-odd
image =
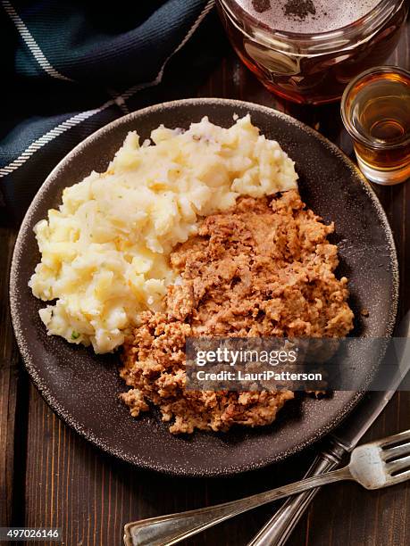
POLYGON ((410 430, 356 447, 347 467, 321 476, 312 476, 238 501, 129 523, 124 527, 124 542, 126 546, 171 546, 247 510, 321 485, 353 480, 372 490, 408 479, 410 430))

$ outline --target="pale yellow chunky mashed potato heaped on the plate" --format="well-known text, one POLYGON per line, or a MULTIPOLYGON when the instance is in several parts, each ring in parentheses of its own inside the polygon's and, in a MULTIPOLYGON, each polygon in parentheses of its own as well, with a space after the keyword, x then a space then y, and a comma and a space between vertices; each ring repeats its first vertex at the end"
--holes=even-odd
POLYGON ((160 127, 151 140, 140 146, 129 133, 108 170, 65 188, 35 227, 41 262, 29 286, 56 300, 39 311, 49 335, 113 351, 142 310, 162 309, 175 280, 170 252, 197 232, 198 217, 239 194, 297 187, 294 162, 249 116, 230 128, 207 118, 185 132, 160 127))

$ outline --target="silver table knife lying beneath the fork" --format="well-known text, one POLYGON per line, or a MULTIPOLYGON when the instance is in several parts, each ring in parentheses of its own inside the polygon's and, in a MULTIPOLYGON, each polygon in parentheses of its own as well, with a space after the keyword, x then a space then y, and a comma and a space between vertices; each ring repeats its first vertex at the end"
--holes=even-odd
MULTIPOLYGON (((410 337, 410 311, 407 312, 396 332, 396 338, 408 337, 410 337)), ((386 385, 386 391, 374 391, 364 395, 357 409, 326 437, 322 444, 322 451, 314 459, 305 477, 318 476, 338 467, 340 460, 356 447, 364 433, 379 417, 410 369, 410 343, 405 341, 404 347, 401 346, 399 349, 402 349, 402 353, 398 358, 398 366, 391 376, 389 385, 386 385)), ((247 546, 283 546, 319 489, 318 487, 290 497, 253 540, 248 542, 247 546)))

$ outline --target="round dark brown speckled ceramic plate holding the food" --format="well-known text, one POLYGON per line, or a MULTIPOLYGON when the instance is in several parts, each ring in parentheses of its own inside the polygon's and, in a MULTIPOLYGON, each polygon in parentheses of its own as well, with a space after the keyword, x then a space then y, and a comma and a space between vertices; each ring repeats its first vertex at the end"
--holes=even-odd
POLYGON ((38 191, 24 219, 13 255, 11 303, 22 357, 38 390, 57 415, 90 442, 138 467, 185 476, 217 476, 264 467, 313 443, 347 415, 360 393, 337 392, 329 400, 289 402, 272 426, 228 434, 173 436, 155 412, 130 417, 118 400, 124 390, 114 355, 96 356, 62 338, 47 336, 38 318, 44 306, 28 282, 39 261, 33 227, 61 202, 64 186, 90 170, 105 170, 127 132, 144 139, 161 123, 188 128, 205 115, 229 127, 233 114, 250 112, 264 135, 275 138, 296 161, 305 202, 336 223, 339 275, 350 279, 355 335, 391 335, 397 308, 397 258, 381 204, 351 161, 311 128, 252 103, 191 99, 159 104, 116 120, 78 145, 38 191), (368 318, 358 312, 369 310, 368 318))

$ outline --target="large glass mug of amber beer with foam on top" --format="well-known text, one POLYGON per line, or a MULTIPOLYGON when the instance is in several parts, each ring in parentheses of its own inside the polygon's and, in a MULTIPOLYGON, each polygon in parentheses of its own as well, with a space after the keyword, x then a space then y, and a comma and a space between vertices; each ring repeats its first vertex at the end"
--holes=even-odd
POLYGON ((239 58, 295 103, 331 103, 383 64, 406 21, 406 0, 217 0, 239 58))

